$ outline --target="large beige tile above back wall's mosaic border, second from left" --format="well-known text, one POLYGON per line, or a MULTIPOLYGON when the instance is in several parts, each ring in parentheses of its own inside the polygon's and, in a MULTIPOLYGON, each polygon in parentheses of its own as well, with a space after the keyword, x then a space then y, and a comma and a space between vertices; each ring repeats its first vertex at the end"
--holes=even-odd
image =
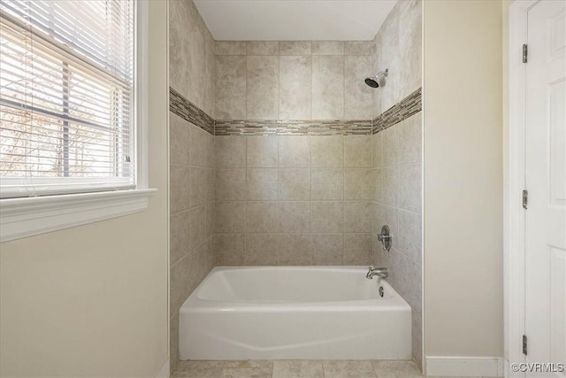
POLYGON ((279 117, 279 57, 249 56, 247 68, 247 120, 279 117))

